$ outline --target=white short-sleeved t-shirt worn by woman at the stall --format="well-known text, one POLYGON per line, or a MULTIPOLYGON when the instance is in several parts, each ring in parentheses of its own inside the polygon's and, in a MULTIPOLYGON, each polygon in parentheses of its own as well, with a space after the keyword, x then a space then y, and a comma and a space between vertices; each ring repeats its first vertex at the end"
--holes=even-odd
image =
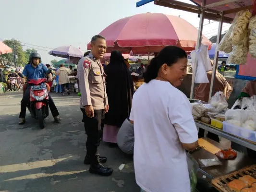
POLYGON ((187 97, 169 82, 152 80, 133 97, 134 168, 146 192, 190 192, 185 149, 197 141, 187 97))

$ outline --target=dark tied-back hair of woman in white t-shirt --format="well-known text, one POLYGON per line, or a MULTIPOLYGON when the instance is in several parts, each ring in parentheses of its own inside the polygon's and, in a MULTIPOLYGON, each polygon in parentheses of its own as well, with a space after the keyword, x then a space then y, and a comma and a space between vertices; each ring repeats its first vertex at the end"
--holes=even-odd
POLYGON ((187 53, 179 47, 167 46, 163 48, 157 55, 150 61, 150 64, 146 68, 146 72, 143 73, 144 82, 148 83, 152 79, 156 79, 158 76, 159 68, 166 63, 168 66, 173 65, 179 59, 187 58, 187 53))

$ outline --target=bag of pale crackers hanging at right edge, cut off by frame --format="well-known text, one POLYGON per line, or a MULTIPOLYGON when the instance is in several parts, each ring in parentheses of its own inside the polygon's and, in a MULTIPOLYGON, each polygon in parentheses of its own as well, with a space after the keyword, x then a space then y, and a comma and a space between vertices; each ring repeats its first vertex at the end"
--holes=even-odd
POLYGON ((256 15, 250 19, 248 29, 250 30, 249 52, 252 57, 256 57, 256 15))

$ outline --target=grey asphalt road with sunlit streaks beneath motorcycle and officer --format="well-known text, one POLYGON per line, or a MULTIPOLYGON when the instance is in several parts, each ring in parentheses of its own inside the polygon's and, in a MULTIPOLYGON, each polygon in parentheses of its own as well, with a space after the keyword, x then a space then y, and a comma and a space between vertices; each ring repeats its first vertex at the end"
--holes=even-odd
POLYGON ((117 147, 104 142, 99 147, 114 169, 110 177, 88 172, 79 97, 51 96, 62 121, 54 123, 49 115, 41 130, 28 110, 27 122, 18 125, 21 91, 0 95, 0 192, 139 192, 133 160, 117 147))

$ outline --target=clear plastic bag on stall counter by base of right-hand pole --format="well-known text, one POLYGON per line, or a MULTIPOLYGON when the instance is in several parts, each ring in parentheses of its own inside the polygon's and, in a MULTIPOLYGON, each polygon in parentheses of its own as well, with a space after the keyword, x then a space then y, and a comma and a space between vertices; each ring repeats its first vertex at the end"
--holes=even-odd
POLYGON ((212 107, 216 108, 216 111, 219 112, 228 108, 229 106, 224 93, 220 91, 211 97, 210 104, 212 105, 212 107))

